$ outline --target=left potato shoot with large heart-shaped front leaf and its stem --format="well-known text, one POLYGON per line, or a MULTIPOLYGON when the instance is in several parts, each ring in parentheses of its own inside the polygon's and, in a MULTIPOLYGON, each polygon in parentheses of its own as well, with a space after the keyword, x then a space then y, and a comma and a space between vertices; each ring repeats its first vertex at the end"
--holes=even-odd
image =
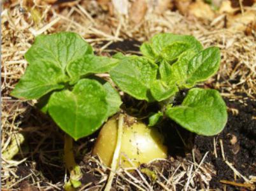
POLYGON ((25 53, 29 63, 11 95, 38 99, 38 107, 48 113, 66 132, 64 162, 71 173, 71 185, 80 185, 82 173, 73 156, 73 139, 95 132, 122 103, 108 81, 95 80, 92 74, 106 73, 117 59, 94 55, 92 46, 73 32, 36 37, 25 53))

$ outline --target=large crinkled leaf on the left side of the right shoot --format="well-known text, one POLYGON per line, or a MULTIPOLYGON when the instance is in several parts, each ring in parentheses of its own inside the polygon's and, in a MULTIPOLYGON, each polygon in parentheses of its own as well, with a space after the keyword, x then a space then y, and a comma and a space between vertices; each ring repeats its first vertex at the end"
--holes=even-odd
POLYGON ((152 101, 150 87, 157 76, 157 64, 145 57, 131 56, 120 60, 110 71, 112 80, 136 99, 152 101))

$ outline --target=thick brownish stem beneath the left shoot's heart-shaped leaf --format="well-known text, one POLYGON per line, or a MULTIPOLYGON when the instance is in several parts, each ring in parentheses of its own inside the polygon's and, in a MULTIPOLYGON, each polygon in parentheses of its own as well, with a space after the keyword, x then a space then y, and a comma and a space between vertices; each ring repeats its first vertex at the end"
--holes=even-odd
POLYGON ((82 171, 75 161, 73 152, 73 138, 71 138, 68 134, 65 134, 64 138, 64 163, 70 173, 70 181, 66 183, 65 190, 74 190, 71 186, 73 185, 72 181, 79 181, 80 178, 82 178, 82 171))

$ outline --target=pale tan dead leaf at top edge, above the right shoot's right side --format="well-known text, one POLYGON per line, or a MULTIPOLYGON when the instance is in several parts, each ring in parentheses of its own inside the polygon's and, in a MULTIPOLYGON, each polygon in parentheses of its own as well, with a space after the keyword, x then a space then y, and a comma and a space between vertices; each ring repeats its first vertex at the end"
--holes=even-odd
POLYGON ((213 20, 215 17, 214 11, 209 4, 204 3, 203 0, 197 0, 188 6, 189 15, 194 15, 197 18, 213 20))

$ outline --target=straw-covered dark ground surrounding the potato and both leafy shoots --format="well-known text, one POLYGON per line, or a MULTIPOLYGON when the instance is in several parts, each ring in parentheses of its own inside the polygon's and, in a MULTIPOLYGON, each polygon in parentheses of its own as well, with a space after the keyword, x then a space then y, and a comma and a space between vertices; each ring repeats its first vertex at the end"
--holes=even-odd
MULTIPOLYGON (((34 108, 34 101, 13 99, 10 91, 25 71, 27 62, 24 60, 24 52, 31 46, 34 36, 75 31, 94 46, 96 53, 102 55, 112 55, 116 51, 139 53, 141 42, 159 32, 192 34, 204 46, 218 46, 222 51, 220 70, 201 87, 215 88, 224 96, 229 107, 229 121, 224 131, 214 138, 206 138, 195 136, 167 122, 168 129, 165 129, 169 135, 166 141, 169 145, 169 158, 143 165, 134 173, 120 169, 115 176, 113 188, 253 189, 253 182, 256 181, 256 37, 253 28, 255 23, 250 20, 250 16, 255 16, 256 9, 252 4, 239 6, 238 3, 235 10, 229 7, 227 12, 218 11, 212 18, 203 19, 201 16, 206 17, 207 14, 204 16, 203 11, 199 10, 207 10, 200 7, 205 8, 204 4, 199 6, 192 3, 193 6, 187 9, 197 9, 196 13, 201 13, 194 17, 193 11, 189 14, 183 12, 185 4, 180 7, 177 3, 179 1, 166 4, 164 8, 157 3, 148 4, 148 10, 139 10, 139 13, 145 13, 136 17, 131 13, 118 15, 120 7, 105 8, 103 1, 75 1, 73 4, 62 4, 59 1, 52 6, 45 5, 44 1, 39 1, 41 4, 36 6, 32 3, 20 4, 14 0, 5 2, 1 13, 1 146, 4 152, 15 143, 19 152, 13 159, 3 159, 3 188, 60 190, 68 178, 62 164, 62 132, 50 118, 34 108), (232 11, 229 13, 230 10, 235 11, 235 14, 232 11), (20 134, 24 135, 24 141, 20 139, 20 134)), ((142 3, 132 8, 132 1, 129 1, 128 9, 135 15, 134 7, 143 6, 145 4, 142 3)), ((208 15, 211 15, 210 12, 208 15)), ((81 139, 75 145, 76 159, 84 173, 82 190, 100 189, 109 174, 100 160, 90 155, 97 133, 81 139)))

